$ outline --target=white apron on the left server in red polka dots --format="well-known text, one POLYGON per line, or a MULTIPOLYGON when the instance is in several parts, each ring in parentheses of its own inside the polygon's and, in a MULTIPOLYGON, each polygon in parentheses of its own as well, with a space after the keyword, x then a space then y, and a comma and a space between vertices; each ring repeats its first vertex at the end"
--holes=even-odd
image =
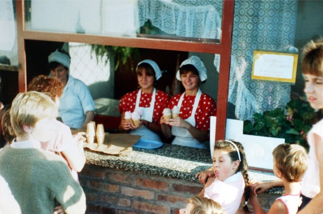
MULTIPOLYGON (((153 109, 154 109, 155 100, 156 100, 156 98, 155 98, 156 97, 156 89, 155 88, 153 89, 150 106, 148 108, 139 107, 140 97, 141 97, 141 89, 139 89, 138 94, 137 94, 135 111, 138 111, 140 109, 143 112, 143 115, 141 116, 140 119, 144 119, 144 120, 147 120, 148 122, 152 122, 152 114, 153 114, 153 109)), ((156 133, 149 130, 144 125, 141 125, 138 129, 131 130, 130 134, 142 136, 140 139, 161 142, 159 136, 156 133)))

